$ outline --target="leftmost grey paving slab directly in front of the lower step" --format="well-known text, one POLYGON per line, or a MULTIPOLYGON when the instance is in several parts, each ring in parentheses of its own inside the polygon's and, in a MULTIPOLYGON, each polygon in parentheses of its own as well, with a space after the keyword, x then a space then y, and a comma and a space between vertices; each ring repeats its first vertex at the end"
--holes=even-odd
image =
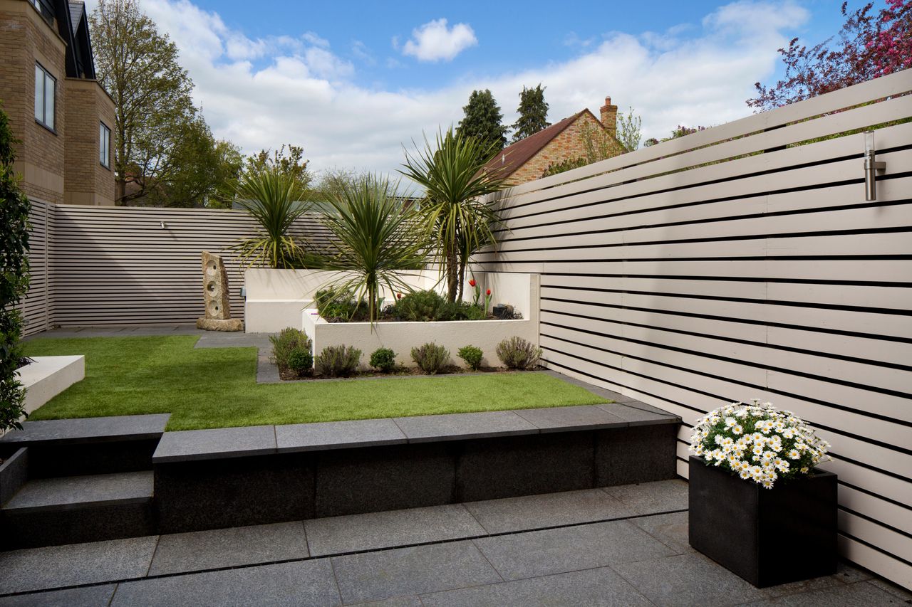
POLYGON ((139 578, 149 571, 158 536, 0 552, 2 592, 50 590, 139 578))

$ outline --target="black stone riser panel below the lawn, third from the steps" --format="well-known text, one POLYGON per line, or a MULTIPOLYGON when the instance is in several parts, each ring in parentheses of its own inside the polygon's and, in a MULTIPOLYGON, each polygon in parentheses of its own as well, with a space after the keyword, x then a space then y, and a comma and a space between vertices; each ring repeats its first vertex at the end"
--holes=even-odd
POLYGON ((593 434, 482 438, 462 444, 459 501, 593 487, 593 434))

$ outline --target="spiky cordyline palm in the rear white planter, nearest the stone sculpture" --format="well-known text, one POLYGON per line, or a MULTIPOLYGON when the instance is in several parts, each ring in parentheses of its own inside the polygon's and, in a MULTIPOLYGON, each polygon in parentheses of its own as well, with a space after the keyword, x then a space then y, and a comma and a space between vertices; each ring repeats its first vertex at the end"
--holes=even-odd
POLYGON ((234 184, 233 200, 259 224, 259 233, 233 245, 240 262, 247 266, 300 267, 306 252, 303 243, 288 233, 292 223, 309 208, 304 188, 280 170, 265 169, 244 174, 234 184))

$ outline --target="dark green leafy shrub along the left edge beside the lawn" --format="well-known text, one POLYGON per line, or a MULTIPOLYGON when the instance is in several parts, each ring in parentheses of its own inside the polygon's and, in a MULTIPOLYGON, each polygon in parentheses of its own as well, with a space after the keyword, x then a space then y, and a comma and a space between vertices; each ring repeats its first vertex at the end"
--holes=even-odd
POLYGON ((16 304, 28 293, 28 211, 26 195, 13 172, 18 141, 0 102, 0 430, 22 427, 25 390, 16 376, 22 362, 22 312, 16 304))

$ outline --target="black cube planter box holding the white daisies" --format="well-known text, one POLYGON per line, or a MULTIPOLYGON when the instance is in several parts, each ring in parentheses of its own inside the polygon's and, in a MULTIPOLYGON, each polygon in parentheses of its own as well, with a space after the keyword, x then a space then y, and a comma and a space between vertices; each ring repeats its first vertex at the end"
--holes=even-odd
POLYGON ((760 588, 836 572, 836 475, 763 489, 690 457, 690 545, 760 588))

